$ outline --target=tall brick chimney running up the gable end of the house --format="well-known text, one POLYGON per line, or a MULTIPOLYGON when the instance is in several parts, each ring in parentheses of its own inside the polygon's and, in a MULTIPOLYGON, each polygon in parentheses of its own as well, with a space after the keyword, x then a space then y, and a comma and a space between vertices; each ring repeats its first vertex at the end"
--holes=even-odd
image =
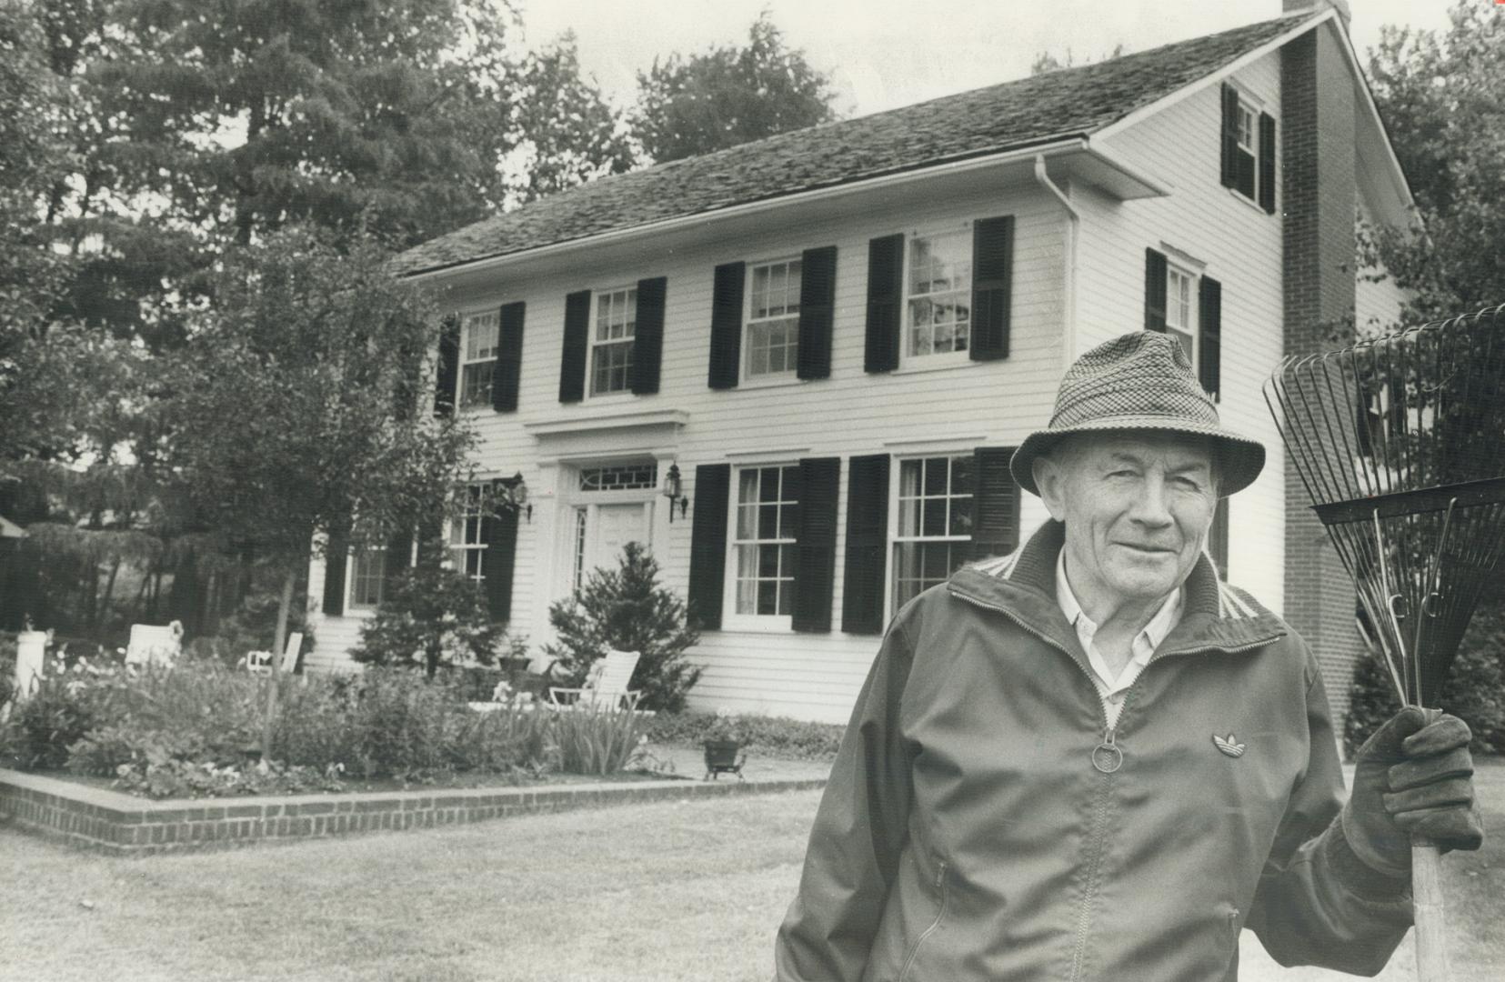
MULTIPOLYGON (((1354 83, 1341 44, 1335 32, 1318 27, 1281 48, 1287 355, 1353 340, 1354 83)), ((1353 623, 1353 582, 1309 505, 1285 457, 1285 620, 1317 653, 1341 737, 1348 683, 1365 651, 1353 623)))

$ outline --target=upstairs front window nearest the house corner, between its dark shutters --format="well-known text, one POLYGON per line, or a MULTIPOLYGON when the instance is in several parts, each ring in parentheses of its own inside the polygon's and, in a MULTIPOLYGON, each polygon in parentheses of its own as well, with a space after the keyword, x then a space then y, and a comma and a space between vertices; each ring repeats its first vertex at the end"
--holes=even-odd
POLYGON ((971 227, 911 236, 905 268, 905 356, 965 352, 972 337, 971 227))

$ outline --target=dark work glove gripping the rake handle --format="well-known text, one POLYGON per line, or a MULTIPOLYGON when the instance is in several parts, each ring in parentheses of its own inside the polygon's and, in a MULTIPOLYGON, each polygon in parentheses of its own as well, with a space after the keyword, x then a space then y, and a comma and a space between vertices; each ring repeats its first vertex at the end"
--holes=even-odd
POLYGON ((1353 854, 1388 877, 1410 875, 1412 836, 1443 853, 1476 850, 1469 725, 1442 710, 1406 707, 1364 741, 1342 835, 1353 854))

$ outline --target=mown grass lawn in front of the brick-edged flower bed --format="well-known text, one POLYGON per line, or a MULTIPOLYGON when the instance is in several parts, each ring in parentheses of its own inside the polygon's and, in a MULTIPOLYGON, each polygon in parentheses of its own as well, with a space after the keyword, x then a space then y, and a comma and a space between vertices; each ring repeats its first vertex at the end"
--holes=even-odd
MULTIPOLYGON (((1505 976, 1494 832, 1446 859, 1457 977, 1505 976)), ((534 815, 233 853, 102 859, 0 826, 0 979, 768 979, 819 793, 534 815)), ((1245 935, 1245 982, 1317 982, 1245 935)), ((1412 979, 1409 949, 1382 979, 1412 979)))

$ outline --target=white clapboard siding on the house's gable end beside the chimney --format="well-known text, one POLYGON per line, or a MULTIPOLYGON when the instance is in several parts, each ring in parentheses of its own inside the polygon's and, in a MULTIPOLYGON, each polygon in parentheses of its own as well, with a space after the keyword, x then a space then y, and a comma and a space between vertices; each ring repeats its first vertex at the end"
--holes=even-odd
MULTIPOLYGON (((1279 54, 1255 60, 1231 80, 1281 119, 1279 54)), ((1219 415, 1225 426, 1261 441, 1270 453, 1251 487, 1228 499, 1228 579, 1279 612, 1285 564, 1285 487, 1281 438, 1260 386, 1279 362, 1281 215, 1219 183, 1221 86, 1207 84, 1105 140, 1129 165, 1169 194, 1114 202, 1084 189, 1078 257, 1076 355, 1144 325, 1144 251, 1172 262, 1206 263, 1222 283, 1219 415)), ((1279 205, 1279 200, 1278 200, 1279 205)), ((1195 269, 1195 265, 1192 266, 1195 269)))

